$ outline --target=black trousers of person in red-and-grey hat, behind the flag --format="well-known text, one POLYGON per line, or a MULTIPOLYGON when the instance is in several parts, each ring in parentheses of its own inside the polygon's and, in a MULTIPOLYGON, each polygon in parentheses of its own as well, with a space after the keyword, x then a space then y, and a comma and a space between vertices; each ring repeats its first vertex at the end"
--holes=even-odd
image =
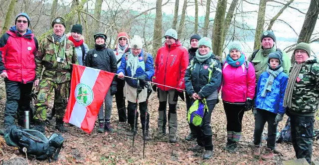
POLYGON ((116 106, 118 108, 118 114, 119 114, 119 122, 126 122, 126 108, 125 108, 125 99, 124 99, 124 86, 125 86, 125 80, 117 79, 117 91, 115 94, 115 100, 116 100, 116 106))

